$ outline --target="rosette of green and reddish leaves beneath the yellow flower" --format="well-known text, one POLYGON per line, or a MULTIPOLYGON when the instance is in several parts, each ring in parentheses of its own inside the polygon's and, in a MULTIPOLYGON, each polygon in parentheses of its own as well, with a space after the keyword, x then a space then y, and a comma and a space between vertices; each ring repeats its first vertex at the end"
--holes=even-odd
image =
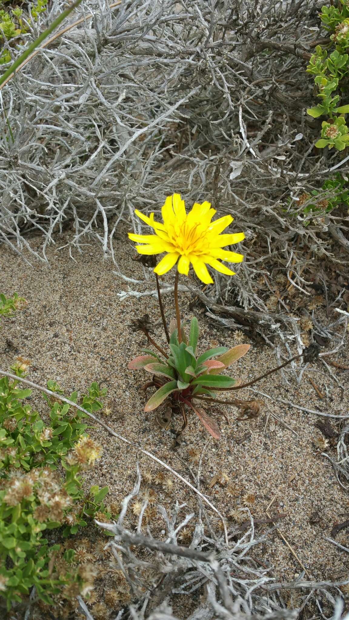
POLYGON ((247 353, 250 345, 236 347, 214 347, 197 355, 199 324, 196 317, 191 321, 189 338, 182 327, 182 342, 178 341, 176 322, 170 325, 170 355, 161 360, 158 353, 143 349, 140 355, 130 361, 131 370, 145 370, 153 375, 153 384, 157 387, 145 405, 145 411, 153 411, 165 401, 172 405, 186 405, 197 415, 207 431, 215 438, 220 438, 220 430, 212 418, 199 405, 193 403, 195 397, 214 398, 217 390, 230 389, 238 385, 238 379, 221 374, 235 361, 247 353))

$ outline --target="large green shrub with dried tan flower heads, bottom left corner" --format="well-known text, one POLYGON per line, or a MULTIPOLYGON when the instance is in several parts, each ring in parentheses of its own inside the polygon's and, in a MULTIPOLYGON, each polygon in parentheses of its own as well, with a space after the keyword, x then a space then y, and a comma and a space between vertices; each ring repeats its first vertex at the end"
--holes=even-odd
MULTIPOLYGON (((29 361, 19 358, 11 369, 22 377, 28 367, 29 361)), ((94 486, 87 493, 83 489, 81 473, 93 467, 102 452, 86 434, 87 416, 60 401, 55 382, 47 385, 57 397, 44 396, 44 420, 25 402, 30 389, 22 389, 16 380, 0 379, 0 594, 7 609, 33 587, 45 603, 52 603, 58 593, 88 593, 93 570, 87 565, 76 569, 75 551, 62 554, 60 544, 50 545, 49 534, 43 533, 57 529, 66 538, 97 512, 100 519, 111 517, 103 503, 107 487, 94 486)), ((93 383, 79 402, 96 411, 105 394, 106 389, 93 383)), ((70 399, 77 403, 78 393, 70 399)))

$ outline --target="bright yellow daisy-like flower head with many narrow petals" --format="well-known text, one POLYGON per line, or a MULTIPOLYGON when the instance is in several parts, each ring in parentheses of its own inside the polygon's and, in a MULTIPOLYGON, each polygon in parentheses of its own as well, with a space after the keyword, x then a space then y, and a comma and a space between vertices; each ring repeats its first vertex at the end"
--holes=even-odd
POLYGON ((167 252, 154 269, 158 275, 170 271, 178 261, 179 273, 188 275, 192 264, 197 277, 205 284, 211 284, 213 280, 206 265, 220 273, 235 275, 235 272, 218 259, 229 260, 230 263, 240 263, 243 260, 242 254, 222 248, 242 241, 245 235, 243 232, 220 234, 232 223, 233 218, 231 215, 225 215, 212 222, 215 210, 211 209, 209 202, 203 202, 201 205, 195 203, 192 210, 186 213, 184 200, 180 194, 168 196, 161 209, 163 224, 155 221, 153 213, 149 218, 138 210, 135 213, 155 230, 155 234, 148 235, 129 232, 131 241, 144 244, 136 246, 137 252, 139 254, 167 252))

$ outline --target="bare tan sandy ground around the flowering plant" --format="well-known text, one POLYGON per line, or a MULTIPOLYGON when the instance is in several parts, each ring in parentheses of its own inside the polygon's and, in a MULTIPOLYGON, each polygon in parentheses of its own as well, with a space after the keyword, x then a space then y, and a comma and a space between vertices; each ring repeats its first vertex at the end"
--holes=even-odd
MULTIPOLYGON (((142 268, 130 260, 132 251, 124 241, 124 233, 120 228, 116 248, 120 270, 128 277, 142 279, 142 268)), ((63 238, 57 239, 57 246, 63 245, 63 241, 63 238)), ((39 243, 40 239, 38 247, 39 243)), ((156 299, 130 297, 120 301, 117 293, 127 290, 128 285, 114 273, 113 263, 102 259, 99 248, 91 245, 85 248, 83 255, 78 252, 73 255, 76 262, 70 259, 66 250, 57 251, 52 247, 48 251, 50 267, 35 261, 32 261, 33 267, 29 267, 10 249, 0 248, 0 291, 7 295, 17 291, 27 299, 27 307, 17 314, 16 319, 2 323, 1 368, 8 369, 17 355, 29 358, 33 366, 29 378, 42 385, 47 379, 55 379, 66 396, 75 389, 86 391, 92 381, 106 386, 112 413, 104 420, 120 435, 151 451, 191 480, 188 465, 196 471, 197 464, 189 463, 189 449, 193 446, 204 448, 207 433, 199 420, 191 417, 183 445, 174 452, 171 449, 173 434, 156 427, 153 413, 143 412, 145 399, 139 387, 147 380, 145 373, 127 370, 128 361, 146 346, 145 337, 139 332, 132 334, 128 325, 145 312, 157 321, 160 314, 156 299)), ((132 286, 142 290, 142 286, 132 286)), ((154 288, 153 283, 150 288, 154 288)), ((189 301, 188 297, 181 297, 186 319, 193 314, 188 309, 189 301)), ((174 316, 170 296, 165 298, 165 309, 174 316)), ((202 350, 213 341, 219 345, 234 345, 233 332, 212 327, 205 316, 201 315, 200 320, 202 350)), ((156 339, 165 346, 161 325, 155 330, 156 339)), ((348 365, 343 355, 339 353, 333 359, 348 365)), ((271 368, 273 363, 274 356, 268 348, 253 345, 248 355, 235 365, 232 374, 246 380, 271 368)), ((337 368, 332 370, 346 386, 348 372, 337 368)), ((348 391, 341 401, 340 388, 319 362, 304 373, 300 386, 296 383, 287 386, 275 374, 257 387, 273 398, 281 397, 309 409, 333 415, 348 414, 348 391), (309 378, 324 394, 326 384, 328 397, 320 400, 309 378)), ((250 399, 252 392, 239 392, 238 395, 250 399)), ((35 405, 41 402, 36 394, 33 402, 35 405)), ((314 440, 322 436, 315 423, 329 418, 307 414, 275 400, 264 399, 264 402, 261 417, 255 422, 238 423, 236 410, 225 407, 230 422, 221 417, 222 439, 208 441, 202 462, 202 489, 224 515, 232 508, 242 506, 244 494, 252 494, 255 496, 252 514, 257 519, 265 518, 265 510, 274 498, 271 512, 286 513, 286 517, 278 522, 279 531, 309 575, 319 580, 347 577, 348 554, 326 541, 325 537, 330 535, 335 523, 348 518, 348 494, 338 485, 329 461, 314 445, 314 440), (238 497, 229 497, 226 485, 209 487, 209 481, 219 472, 226 473, 230 482, 235 482, 242 490, 238 497), (315 517, 314 513, 317 513, 315 517)), ((214 411, 217 409, 211 409, 212 413, 214 411)), ((338 424, 338 420, 330 422, 335 426, 338 424)), ((173 425, 179 428, 181 422, 174 420, 173 425)), ((89 472, 89 482, 109 485, 109 502, 121 500, 132 488, 137 459, 140 459, 142 471, 149 469, 154 474, 160 471, 161 468, 147 457, 114 440, 102 428, 97 427, 92 433, 104 445, 104 453, 89 472)), ((329 446, 326 451, 336 458, 335 447, 329 446)), ((170 492, 153 484, 158 500, 170 507, 178 499, 179 502, 188 502, 188 510, 195 508, 197 503, 193 493, 178 480, 173 478, 173 482, 170 492)), ((257 533, 263 531, 257 529, 257 533)), ((347 546, 347 531, 337 534, 336 540, 347 546)), ((256 547, 255 557, 270 566, 271 575, 277 579, 292 580, 302 570, 275 530, 256 547)))

